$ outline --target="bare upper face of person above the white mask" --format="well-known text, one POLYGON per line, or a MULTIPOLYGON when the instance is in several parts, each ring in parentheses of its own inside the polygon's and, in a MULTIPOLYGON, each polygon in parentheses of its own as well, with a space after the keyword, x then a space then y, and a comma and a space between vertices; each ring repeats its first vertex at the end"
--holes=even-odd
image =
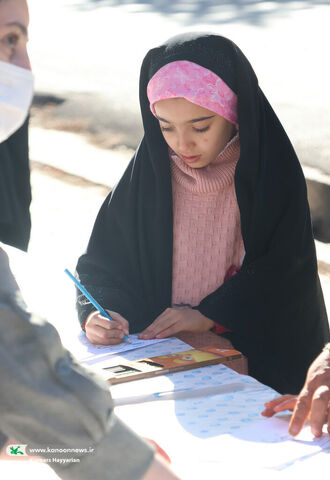
POLYGON ((26 0, 0 1, 0 61, 31 69, 27 53, 28 25, 26 0))

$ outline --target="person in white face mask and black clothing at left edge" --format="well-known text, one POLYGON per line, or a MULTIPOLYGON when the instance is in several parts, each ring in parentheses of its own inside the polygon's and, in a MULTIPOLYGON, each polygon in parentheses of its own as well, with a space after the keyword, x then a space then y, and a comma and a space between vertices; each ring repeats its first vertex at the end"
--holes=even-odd
POLYGON ((0 241, 27 250, 31 218, 28 111, 33 75, 25 1, 0 0, 0 241))

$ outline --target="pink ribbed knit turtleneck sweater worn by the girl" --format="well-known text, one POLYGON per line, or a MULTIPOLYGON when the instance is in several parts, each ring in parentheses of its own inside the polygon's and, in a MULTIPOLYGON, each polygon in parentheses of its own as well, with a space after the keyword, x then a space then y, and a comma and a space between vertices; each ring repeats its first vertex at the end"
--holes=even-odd
POLYGON ((171 155, 172 306, 196 306, 240 267, 244 246, 234 187, 238 134, 212 164, 193 169, 171 155))

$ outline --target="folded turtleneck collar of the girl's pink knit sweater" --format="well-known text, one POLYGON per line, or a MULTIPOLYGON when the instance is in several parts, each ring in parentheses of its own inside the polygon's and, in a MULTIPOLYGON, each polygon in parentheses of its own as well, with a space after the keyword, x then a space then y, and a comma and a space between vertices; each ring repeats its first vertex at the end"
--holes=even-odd
POLYGON ((237 133, 207 167, 191 168, 170 151, 172 180, 192 193, 216 193, 233 183, 240 154, 237 133))

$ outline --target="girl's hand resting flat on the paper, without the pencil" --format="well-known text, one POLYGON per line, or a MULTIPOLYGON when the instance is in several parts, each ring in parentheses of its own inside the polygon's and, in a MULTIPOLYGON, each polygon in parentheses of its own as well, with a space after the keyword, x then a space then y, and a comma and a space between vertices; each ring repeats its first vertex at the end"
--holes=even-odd
POLYGON ((139 338, 165 338, 179 332, 207 332, 214 322, 192 308, 167 308, 149 325, 139 338))

